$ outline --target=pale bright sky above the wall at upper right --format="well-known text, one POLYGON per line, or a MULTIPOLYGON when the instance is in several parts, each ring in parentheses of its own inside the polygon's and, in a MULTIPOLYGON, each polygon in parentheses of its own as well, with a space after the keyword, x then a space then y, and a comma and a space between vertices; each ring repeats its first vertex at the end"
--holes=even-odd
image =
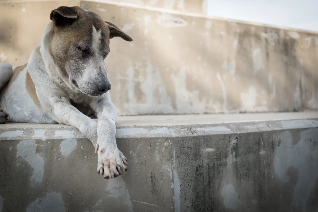
POLYGON ((207 0, 207 13, 318 32, 318 0, 207 0))

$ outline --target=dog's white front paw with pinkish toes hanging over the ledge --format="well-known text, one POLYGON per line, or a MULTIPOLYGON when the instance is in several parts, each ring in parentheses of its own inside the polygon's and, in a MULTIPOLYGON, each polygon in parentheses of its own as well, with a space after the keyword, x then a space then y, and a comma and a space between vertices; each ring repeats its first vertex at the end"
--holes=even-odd
POLYGON ((102 147, 97 144, 98 154, 97 173, 104 176, 104 179, 111 179, 126 174, 127 158, 117 147, 102 147))

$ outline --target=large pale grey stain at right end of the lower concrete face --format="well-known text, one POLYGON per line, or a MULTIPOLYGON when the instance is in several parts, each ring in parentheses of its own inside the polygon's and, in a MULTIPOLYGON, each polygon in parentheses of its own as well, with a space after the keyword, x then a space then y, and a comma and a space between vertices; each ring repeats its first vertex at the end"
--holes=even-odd
POLYGON ((287 170, 291 167, 298 170, 294 187, 293 205, 306 209, 310 191, 315 187, 318 178, 318 131, 315 128, 301 131, 300 141, 293 145, 292 133, 282 132, 280 146, 275 150, 275 173, 282 182, 290 181, 287 170), (312 161, 308 163, 308 161, 312 161))

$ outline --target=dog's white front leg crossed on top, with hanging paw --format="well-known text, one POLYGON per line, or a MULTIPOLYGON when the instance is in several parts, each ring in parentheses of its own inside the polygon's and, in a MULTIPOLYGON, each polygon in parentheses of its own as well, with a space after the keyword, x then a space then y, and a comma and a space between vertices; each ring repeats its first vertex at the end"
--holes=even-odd
POLYGON ((91 104, 97 112, 97 147, 98 164, 97 173, 105 179, 111 179, 127 171, 127 158, 118 150, 115 134, 117 111, 110 101, 109 93, 103 95, 102 99, 91 104))

